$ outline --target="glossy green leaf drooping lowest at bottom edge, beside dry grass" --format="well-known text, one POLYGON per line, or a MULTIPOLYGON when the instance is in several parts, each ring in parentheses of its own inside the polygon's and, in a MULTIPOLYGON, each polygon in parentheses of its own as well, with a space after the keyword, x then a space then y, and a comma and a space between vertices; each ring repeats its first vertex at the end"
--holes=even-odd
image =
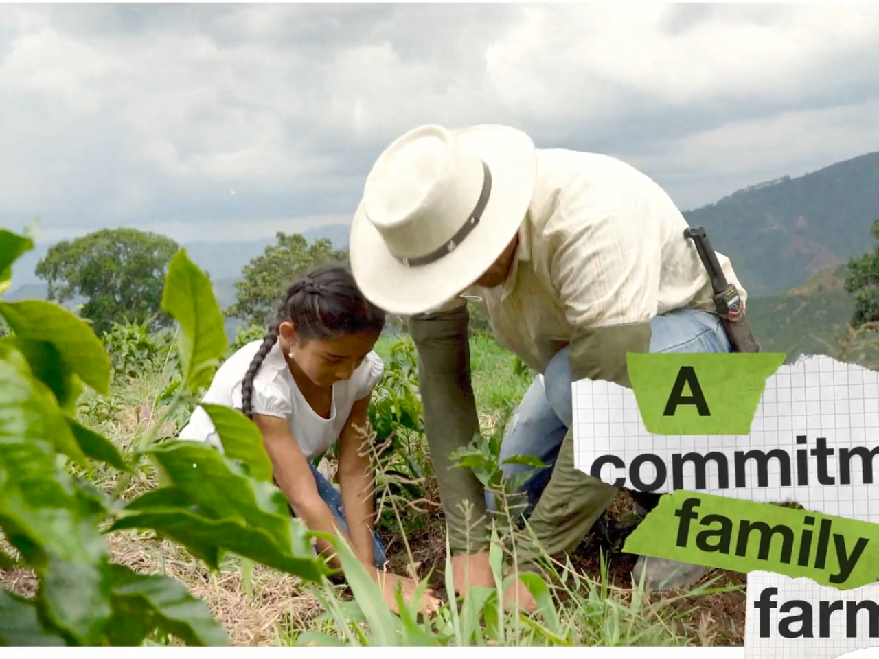
POLYGON ((107 627, 112 645, 140 645, 156 627, 190 646, 228 646, 229 635, 207 605, 183 583, 167 576, 139 575, 110 565, 113 619, 107 627))

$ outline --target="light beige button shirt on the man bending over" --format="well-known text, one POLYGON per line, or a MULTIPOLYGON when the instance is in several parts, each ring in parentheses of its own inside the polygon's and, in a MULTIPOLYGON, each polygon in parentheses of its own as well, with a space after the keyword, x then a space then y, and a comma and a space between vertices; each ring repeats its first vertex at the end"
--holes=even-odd
MULTIPOLYGON (((715 311, 711 283, 672 199, 610 156, 536 149, 537 182, 504 286, 471 287, 498 342, 543 373, 572 328, 715 311)), ((717 254, 743 304, 730 259, 717 254)), ((456 297, 439 310, 466 304, 456 297)))

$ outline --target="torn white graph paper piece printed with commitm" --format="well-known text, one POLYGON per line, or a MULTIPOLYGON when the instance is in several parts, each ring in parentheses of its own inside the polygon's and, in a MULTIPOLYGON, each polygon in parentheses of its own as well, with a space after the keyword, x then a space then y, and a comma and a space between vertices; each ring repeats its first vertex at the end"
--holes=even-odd
MULTIPOLYGON (((838 362, 829 357, 805 358, 794 365, 781 366, 766 380, 751 427, 751 435, 653 435, 644 428, 635 394, 631 389, 611 382, 580 380, 573 385, 575 466, 587 474, 592 462, 602 455, 619 456, 627 465, 638 455, 653 453, 665 461, 667 477, 658 492, 672 491, 672 455, 675 453, 723 453, 730 466, 730 487, 718 487, 718 467, 708 461, 707 487, 698 489, 695 467, 685 462, 683 489, 720 496, 734 496, 759 502, 796 501, 813 511, 879 523, 879 483, 865 483, 861 460, 851 460, 850 485, 820 485, 817 460, 809 458, 809 486, 781 485, 781 465, 769 461, 768 487, 758 487, 755 460, 745 468, 745 487, 736 488, 732 467, 737 451, 781 448, 796 465, 796 450, 812 449, 817 437, 827 439, 834 449, 828 460, 828 474, 838 476, 836 458, 840 447, 879 446, 879 373, 861 366, 838 362), (796 436, 805 435, 808 443, 797 445, 796 436), (870 502, 875 502, 870 505, 870 502)), ((873 460, 879 481, 879 456, 873 460)), ((656 469, 644 464, 640 470, 644 482, 653 480, 656 469)), ((601 478, 614 482, 622 473, 606 465, 601 478)))

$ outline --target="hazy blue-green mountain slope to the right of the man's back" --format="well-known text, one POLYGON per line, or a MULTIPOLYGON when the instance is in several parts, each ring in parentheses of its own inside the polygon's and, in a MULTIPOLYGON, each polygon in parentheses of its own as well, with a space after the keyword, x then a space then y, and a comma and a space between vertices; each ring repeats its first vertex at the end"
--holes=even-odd
POLYGON ((730 257, 750 295, 781 293, 868 249, 879 153, 752 185, 684 215, 730 257))

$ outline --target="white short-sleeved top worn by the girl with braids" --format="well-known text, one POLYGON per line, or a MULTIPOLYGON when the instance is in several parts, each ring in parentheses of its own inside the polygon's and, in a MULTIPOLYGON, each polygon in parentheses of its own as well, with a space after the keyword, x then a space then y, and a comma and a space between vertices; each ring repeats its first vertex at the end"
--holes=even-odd
MULTIPOLYGON (((217 369, 214 381, 201 402, 241 409, 241 382, 261 344, 262 341, 247 344, 225 361, 217 369)), ((368 353, 351 378, 333 385, 330 418, 325 419, 318 416, 301 395, 280 344, 276 343, 253 379, 253 413, 286 418, 302 453, 307 460, 314 460, 336 444, 354 402, 370 394, 383 371, 381 358, 374 352, 368 353)), ((193 411, 179 438, 207 440, 222 451, 214 424, 200 407, 193 411)))

